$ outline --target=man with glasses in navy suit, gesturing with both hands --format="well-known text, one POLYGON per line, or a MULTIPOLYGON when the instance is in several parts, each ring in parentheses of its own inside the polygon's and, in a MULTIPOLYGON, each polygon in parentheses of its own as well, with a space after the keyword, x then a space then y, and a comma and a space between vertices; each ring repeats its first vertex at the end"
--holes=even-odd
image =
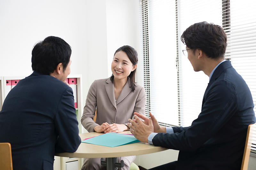
POLYGON ((255 115, 248 86, 224 60, 227 36, 220 26, 200 22, 188 27, 181 41, 194 70, 209 76, 201 113, 189 127, 169 128, 160 127, 151 113, 150 119, 134 113, 131 133, 142 142, 180 151, 178 161, 151 170, 238 170, 255 115))

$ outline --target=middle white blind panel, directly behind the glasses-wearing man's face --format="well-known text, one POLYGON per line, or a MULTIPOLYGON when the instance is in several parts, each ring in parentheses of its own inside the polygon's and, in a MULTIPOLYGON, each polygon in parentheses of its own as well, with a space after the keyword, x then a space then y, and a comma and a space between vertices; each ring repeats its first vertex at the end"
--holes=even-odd
POLYGON ((179 0, 178 37, 179 37, 179 80, 180 80, 180 126, 190 126, 201 112, 202 100, 209 77, 203 71, 195 72, 182 50, 186 48, 180 37, 191 25, 207 21, 222 25, 222 4, 220 0, 179 0), (210 8, 209 8, 210 7, 210 8))

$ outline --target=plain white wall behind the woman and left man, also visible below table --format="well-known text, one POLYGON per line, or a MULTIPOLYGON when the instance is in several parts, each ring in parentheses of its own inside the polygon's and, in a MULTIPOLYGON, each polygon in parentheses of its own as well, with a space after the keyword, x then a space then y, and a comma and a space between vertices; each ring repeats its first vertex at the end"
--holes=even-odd
MULTIPOLYGON (((95 79, 111 75, 117 48, 134 47, 140 57, 139 0, 1 0, 0 76, 32 73, 31 51, 47 36, 63 38, 72 47, 71 74, 83 75, 83 100, 95 79)), ((141 85, 141 67, 137 82, 141 85)), ((178 151, 139 155, 145 168, 176 160, 178 151)), ((249 169, 255 169, 251 157, 249 169), (251 166, 250 166, 251 165, 251 166)))

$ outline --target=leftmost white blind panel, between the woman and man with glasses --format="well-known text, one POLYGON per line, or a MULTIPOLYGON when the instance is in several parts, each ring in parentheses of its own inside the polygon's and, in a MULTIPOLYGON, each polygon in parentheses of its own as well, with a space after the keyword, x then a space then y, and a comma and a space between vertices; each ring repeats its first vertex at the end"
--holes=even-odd
POLYGON ((144 70, 150 74, 144 82, 150 81, 150 111, 160 123, 177 125, 175 0, 148 0, 147 5, 149 58, 144 70))

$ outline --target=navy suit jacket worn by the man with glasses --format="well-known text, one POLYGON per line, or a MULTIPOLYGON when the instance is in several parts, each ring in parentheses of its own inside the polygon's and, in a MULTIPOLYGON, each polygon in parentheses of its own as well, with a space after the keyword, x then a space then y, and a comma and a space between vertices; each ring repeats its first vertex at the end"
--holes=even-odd
POLYGON ((159 133, 152 142, 180 150, 176 170, 240 169, 247 127, 255 123, 253 107, 244 79, 225 61, 214 71, 191 126, 159 133))

